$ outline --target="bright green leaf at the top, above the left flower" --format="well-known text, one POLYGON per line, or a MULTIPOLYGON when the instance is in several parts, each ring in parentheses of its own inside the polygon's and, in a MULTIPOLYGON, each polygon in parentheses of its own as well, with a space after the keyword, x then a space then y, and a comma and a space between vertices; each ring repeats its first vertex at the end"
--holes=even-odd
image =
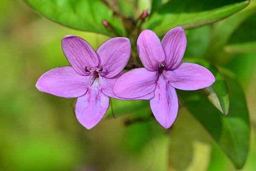
POLYGON ((114 36, 102 25, 107 20, 122 34, 119 20, 100 0, 24 0, 32 9, 56 23, 83 31, 114 36))

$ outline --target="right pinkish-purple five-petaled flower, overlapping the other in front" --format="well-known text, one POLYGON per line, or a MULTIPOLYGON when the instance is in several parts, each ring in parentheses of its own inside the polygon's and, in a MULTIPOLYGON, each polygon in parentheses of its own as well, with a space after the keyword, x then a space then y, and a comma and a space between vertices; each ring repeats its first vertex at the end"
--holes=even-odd
POLYGON ((175 88, 198 90, 215 82, 206 68, 181 62, 186 49, 186 34, 182 27, 171 29, 160 42, 151 30, 141 32, 137 51, 145 68, 136 68, 122 75, 113 92, 122 98, 137 98, 154 92, 151 110, 164 128, 170 128, 178 112, 175 88))

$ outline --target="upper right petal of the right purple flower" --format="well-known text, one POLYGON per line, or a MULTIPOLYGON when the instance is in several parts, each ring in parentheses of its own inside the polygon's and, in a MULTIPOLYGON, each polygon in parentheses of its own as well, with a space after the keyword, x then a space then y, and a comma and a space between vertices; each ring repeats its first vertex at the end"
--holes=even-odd
POLYGON ((166 54, 166 68, 174 70, 180 65, 186 50, 186 33, 182 27, 169 30, 162 39, 162 45, 166 54))

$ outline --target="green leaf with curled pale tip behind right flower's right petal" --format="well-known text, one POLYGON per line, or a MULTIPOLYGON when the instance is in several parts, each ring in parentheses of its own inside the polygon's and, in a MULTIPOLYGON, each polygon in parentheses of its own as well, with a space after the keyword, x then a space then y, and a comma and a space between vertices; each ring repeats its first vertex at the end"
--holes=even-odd
POLYGON ((228 95, 228 87, 224 77, 218 69, 209 64, 207 61, 195 58, 186 58, 186 61, 193 62, 206 67, 215 76, 215 83, 211 87, 202 89, 201 92, 222 114, 227 115, 230 108, 230 98, 228 95))

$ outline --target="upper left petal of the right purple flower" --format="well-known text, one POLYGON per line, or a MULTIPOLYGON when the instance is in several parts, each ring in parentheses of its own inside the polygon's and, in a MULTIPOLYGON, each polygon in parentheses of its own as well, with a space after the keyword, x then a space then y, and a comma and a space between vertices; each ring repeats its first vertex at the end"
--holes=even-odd
POLYGON ((151 30, 144 30, 137 40, 140 61, 149 71, 156 71, 159 63, 165 59, 163 46, 157 35, 151 30))

